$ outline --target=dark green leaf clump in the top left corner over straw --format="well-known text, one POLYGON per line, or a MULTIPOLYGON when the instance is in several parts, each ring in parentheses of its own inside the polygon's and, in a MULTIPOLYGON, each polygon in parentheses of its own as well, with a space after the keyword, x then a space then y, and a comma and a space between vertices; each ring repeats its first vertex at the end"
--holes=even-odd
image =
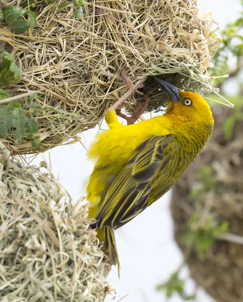
POLYGON ((22 10, 8 5, 3 10, 3 14, 6 23, 16 34, 23 34, 29 28, 34 28, 36 24, 36 15, 30 10, 22 10), (29 17, 30 21, 24 18, 25 15, 29 17))

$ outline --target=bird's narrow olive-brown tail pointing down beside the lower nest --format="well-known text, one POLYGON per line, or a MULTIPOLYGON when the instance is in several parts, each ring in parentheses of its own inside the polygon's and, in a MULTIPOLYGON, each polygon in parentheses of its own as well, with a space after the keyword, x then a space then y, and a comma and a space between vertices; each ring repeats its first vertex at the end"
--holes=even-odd
POLYGON ((104 226, 101 229, 97 229, 97 237, 100 241, 105 242, 105 253, 107 254, 111 265, 117 265, 118 275, 120 276, 120 263, 116 248, 116 239, 114 229, 111 226, 104 226))

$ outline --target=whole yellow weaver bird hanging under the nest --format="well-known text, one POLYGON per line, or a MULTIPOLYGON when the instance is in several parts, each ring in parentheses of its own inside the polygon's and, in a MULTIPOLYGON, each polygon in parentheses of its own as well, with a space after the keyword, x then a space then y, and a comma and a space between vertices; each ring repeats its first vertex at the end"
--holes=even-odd
POLYGON ((96 160, 87 186, 89 216, 97 220, 93 228, 118 269, 114 230, 175 184, 213 130, 212 112, 199 94, 156 81, 169 96, 166 113, 122 125, 110 110, 105 115, 110 129, 97 136, 88 152, 96 160))

